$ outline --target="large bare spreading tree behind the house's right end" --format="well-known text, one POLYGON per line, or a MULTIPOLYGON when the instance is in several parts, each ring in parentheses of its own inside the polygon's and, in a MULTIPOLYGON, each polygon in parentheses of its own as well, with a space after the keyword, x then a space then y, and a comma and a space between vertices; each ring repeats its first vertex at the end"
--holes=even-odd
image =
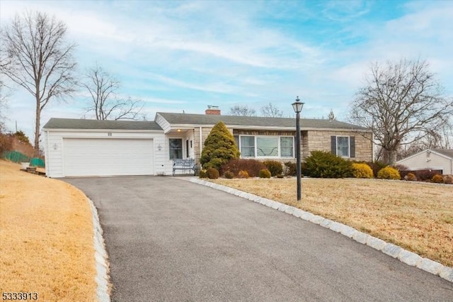
POLYGON ((453 101, 420 60, 375 63, 366 86, 352 101, 350 120, 371 128, 384 162, 394 164, 403 144, 418 141, 449 123, 453 101))

